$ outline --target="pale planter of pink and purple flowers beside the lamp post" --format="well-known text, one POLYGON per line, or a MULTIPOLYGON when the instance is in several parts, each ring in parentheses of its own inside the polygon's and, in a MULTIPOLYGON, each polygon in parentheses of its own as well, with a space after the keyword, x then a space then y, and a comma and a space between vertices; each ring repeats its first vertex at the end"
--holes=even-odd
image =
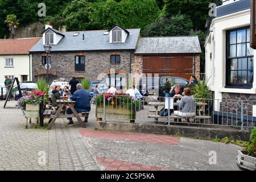
POLYGON ((23 96, 18 100, 18 106, 26 118, 39 118, 39 104, 42 102, 44 93, 32 91, 31 94, 23 96))

